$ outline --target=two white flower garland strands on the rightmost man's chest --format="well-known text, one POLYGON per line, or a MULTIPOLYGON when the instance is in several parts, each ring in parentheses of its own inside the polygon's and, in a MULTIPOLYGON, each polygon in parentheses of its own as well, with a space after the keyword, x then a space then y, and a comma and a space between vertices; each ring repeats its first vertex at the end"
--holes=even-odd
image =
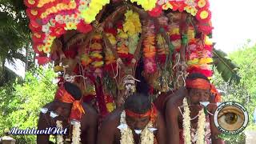
MULTIPOLYGON (((190 109, 188 106, 187 99, 183 99, 183 106, 184 106, 184 114, 183 114, 183 138, 185 144, 191 143, 191 133, 190 133, 190 109)), ((206 115, 204 113, 204 110, 199 111, 198 116, 198 130, 195 134, 197 141, 197 144, 204 144, 204 138, 205 138, 205 126, 206 126, 206 115)))

